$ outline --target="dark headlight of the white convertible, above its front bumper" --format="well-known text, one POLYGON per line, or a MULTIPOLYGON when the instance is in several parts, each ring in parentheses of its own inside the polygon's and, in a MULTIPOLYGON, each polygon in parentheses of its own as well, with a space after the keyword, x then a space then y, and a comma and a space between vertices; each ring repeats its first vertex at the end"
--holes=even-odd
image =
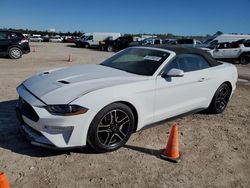
POLYGON ((53 114, 59 116, 73 116, 78 114, 84 114, 88 111, 87 108, 78 106, 78 105, 48 105, 45 106, 45 109, 53 114))

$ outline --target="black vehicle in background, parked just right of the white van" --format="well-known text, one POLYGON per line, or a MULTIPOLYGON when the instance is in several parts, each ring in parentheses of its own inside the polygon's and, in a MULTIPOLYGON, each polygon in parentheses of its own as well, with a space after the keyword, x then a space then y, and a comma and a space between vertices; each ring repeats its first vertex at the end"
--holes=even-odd
POLYGON ((129 44, 132 41, 133 41, 132 36, 123 36, 115 40, 107 38, 106 40, 100 41, 99 46, 102 50, 113 52, 129 47, 129 44))

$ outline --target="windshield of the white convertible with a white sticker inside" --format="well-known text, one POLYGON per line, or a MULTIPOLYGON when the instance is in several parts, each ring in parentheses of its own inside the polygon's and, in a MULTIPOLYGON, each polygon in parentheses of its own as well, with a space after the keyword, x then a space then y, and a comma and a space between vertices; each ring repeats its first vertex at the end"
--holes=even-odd
POLYGON ((152 76, 168 56, 168 52, 160 50, 128 48, 107 59, 101 65, 133 74, 152 76))

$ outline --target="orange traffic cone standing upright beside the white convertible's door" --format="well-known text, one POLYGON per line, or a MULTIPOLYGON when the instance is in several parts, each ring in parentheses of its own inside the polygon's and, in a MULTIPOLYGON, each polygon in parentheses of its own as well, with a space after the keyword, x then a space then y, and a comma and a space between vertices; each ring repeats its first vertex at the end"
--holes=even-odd
POLYGON ((175 163, 180 162, 178 127, 176 123, 172 126, 168 144, 161 158, 175 163))

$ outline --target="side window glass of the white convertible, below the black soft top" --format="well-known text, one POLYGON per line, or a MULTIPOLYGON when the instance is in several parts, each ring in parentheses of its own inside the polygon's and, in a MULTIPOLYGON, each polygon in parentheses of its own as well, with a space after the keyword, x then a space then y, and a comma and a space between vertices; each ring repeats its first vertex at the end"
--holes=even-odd
POLYGON ((168 73, 171 69, 181 69, 184 72, 191 72, 209 68, 209 63, 200 55, 182 54, 166 65, 164 72, 168 73))

